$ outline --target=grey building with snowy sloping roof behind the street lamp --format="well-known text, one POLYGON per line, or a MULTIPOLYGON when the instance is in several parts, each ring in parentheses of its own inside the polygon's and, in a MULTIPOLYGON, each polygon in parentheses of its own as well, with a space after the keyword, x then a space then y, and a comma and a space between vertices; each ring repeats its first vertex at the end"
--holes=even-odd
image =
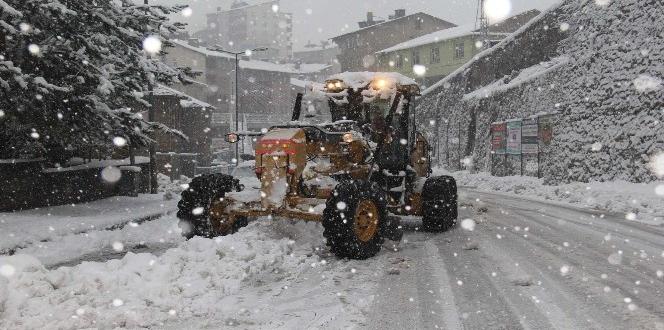
MULTIPOLYGON (((191 84, 174 89, 204 100, 215 107, 211 121, 211 141, 216 150, 229 147, 224 136, 235 130, 235 57, 202 47, 198 40, 171 40, 163 61, 187 66, 199 75, 191 84)), ((239 61, 239 122, 245 129, 260 130, 290 118, 293 99, 291 77, 304 71, 293 64, 275 64, 241 56, 239 61)))

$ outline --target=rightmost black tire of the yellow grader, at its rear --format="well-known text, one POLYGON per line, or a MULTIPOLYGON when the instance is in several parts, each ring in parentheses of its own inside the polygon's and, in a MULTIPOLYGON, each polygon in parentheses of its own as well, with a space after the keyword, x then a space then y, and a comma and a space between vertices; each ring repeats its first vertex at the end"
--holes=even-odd
POLYGON ((457 186, 451 176, 427 179, 422 189, 422 229, 443 232, 453 228, 457 220, 457 186))

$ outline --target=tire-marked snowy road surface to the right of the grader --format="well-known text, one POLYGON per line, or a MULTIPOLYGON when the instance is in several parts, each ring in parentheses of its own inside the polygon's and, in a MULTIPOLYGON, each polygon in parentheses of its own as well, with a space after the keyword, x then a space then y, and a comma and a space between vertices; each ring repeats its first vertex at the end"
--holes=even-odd
POLYGON ((462 199, 474 230, 407 234, 410 267, 380 281, 370 328, 664 329, 662 227, 503 194, 462 199))

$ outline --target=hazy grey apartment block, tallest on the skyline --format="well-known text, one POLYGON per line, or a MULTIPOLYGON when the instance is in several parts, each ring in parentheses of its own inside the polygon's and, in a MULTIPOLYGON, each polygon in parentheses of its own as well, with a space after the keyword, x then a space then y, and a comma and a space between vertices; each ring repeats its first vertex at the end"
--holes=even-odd
POLYGON ((207 15, 207 28, 194 37, 212 46, 230 49, 268 48, 261 58, 286 60, 293 55, 293 18, 279 10, 279 1, 250 5, 235 0, 229 10, 207 15))

